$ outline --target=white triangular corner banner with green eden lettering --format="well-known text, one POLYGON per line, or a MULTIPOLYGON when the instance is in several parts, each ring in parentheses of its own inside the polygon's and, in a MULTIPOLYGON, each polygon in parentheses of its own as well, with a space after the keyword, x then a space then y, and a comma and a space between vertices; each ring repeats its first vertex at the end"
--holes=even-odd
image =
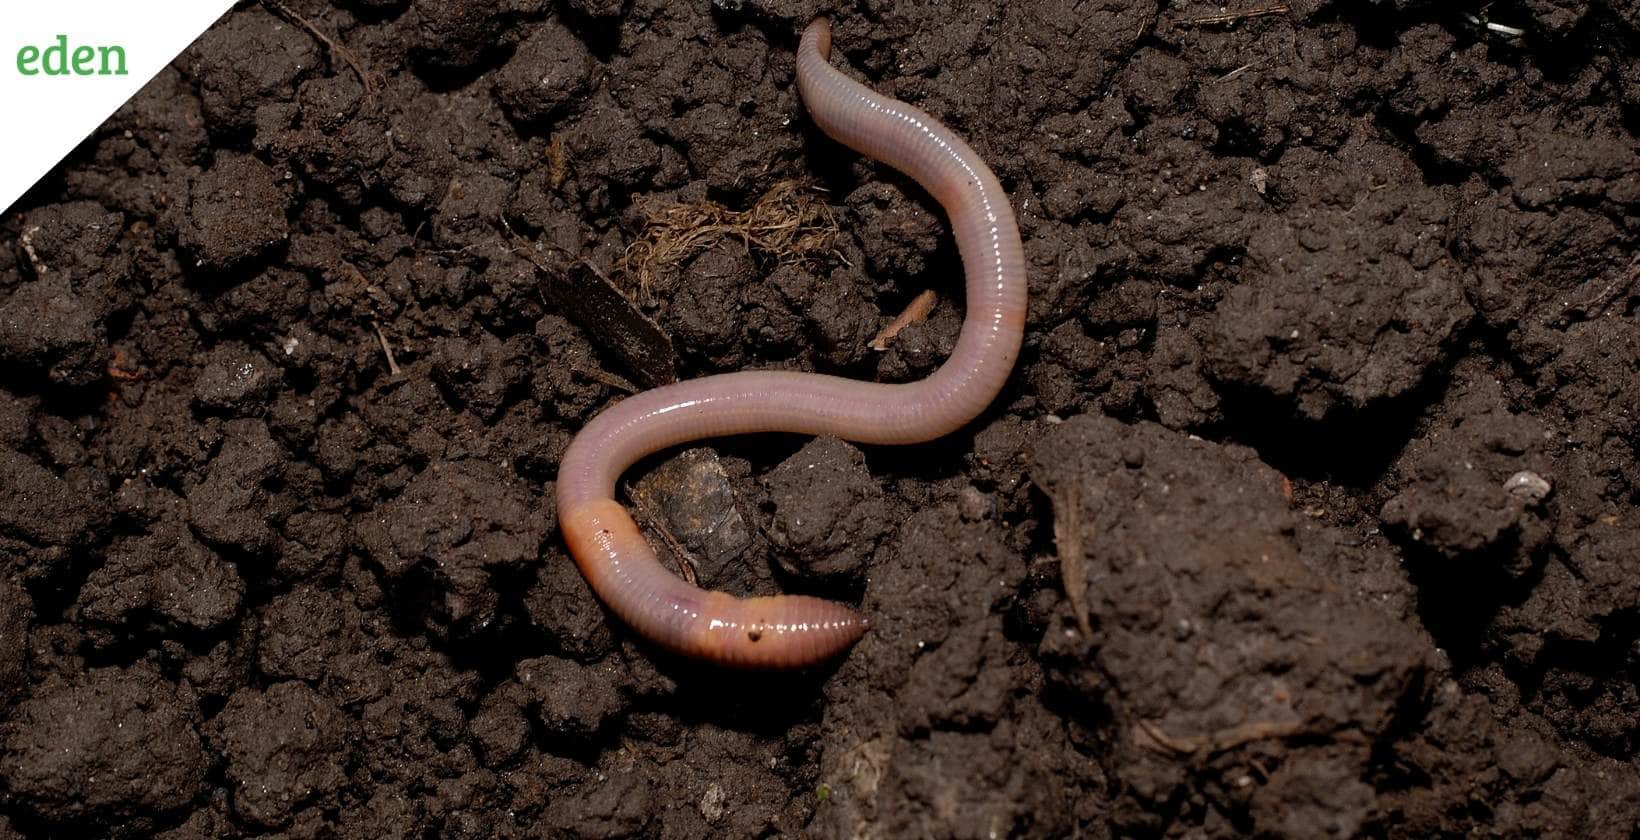
POLYGON ((233 0, 0 0, 0 210, 171 64, 233 0), (25 128, 26 126, 26 128, 25 128))

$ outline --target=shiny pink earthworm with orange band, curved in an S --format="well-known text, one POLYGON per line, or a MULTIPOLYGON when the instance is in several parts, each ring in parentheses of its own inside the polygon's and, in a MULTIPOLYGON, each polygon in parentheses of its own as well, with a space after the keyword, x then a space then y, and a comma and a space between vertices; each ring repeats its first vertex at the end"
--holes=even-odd
POLYGON ((831 26, 817 18, 797 48, 797 89, 810 116, 831 138, 915 179, 951 217, 968 287, 968 318, 951 358, 909 384, 745 371, 645 390, 592 418, 558 468, 559 530, 610 610, 663 648, 738 668, 815 664, 853 645, 866 619, 815 597, 736 599, 684 582, 615 502, 620 474, 658 450, 722 435, 938 438, 991 404, 1025 330, 1025 258, 995 176, 943 125, 843 75, 830 54, 831 26))

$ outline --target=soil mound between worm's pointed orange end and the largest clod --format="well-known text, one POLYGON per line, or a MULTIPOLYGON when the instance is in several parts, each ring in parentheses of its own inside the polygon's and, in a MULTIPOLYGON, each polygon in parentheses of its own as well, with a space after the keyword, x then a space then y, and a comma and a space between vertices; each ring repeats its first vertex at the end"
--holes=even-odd
POLYGON ((872 630, 828 689, 823 788, 827 835, 999 837, 1064 833, 1077 791, 1100 771, 1066 743, 1036 696, 1040 671, 1004 632, 1002 605, 1022 559, 956 502, 909 517, 871 576, 872 630), (894 610, 874 604, 895 602, 894 610), (918 697, 905 704, 907 697, 918 697))

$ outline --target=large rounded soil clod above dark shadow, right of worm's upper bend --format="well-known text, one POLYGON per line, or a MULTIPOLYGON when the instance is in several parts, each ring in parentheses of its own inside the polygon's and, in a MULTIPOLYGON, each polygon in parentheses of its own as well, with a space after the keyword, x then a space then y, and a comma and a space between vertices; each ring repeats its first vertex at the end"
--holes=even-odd
POLYGON ((1289 182, 1286 164, 1273 172, 1278 190, 1312 210, 1251 230, 1246 282, 1212 318, 1210 369, 1312 418, 1399 397, 1443 359, 1469 317, 1461 269, 1443 246, 1443 202, 1405 185, 1414 169, 1389 149, 1346 146, 1337 162, 1289 158, 1307 180, 1317 169, 1340 171, 1309 184, 1289 182))

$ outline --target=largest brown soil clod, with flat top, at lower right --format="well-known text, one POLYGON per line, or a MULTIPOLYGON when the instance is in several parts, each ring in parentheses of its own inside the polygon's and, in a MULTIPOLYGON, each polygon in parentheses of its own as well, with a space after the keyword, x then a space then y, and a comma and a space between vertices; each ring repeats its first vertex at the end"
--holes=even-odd
POLYGON ((1373 796, 1358 779, 1420 702, 1430 641, 1328 578, 1281 476, 1248 450, 1073 418, 1035 453, 1032 477, 1074 530, 1058 558, 1073 596, 1043 655, 1050 679, 1110 715, 1117 824, 1200 819, 1189 786, 1258 832, 1360 833, 1373 796), (1250 776, 1269 750, 1282 773, 1250 776))

